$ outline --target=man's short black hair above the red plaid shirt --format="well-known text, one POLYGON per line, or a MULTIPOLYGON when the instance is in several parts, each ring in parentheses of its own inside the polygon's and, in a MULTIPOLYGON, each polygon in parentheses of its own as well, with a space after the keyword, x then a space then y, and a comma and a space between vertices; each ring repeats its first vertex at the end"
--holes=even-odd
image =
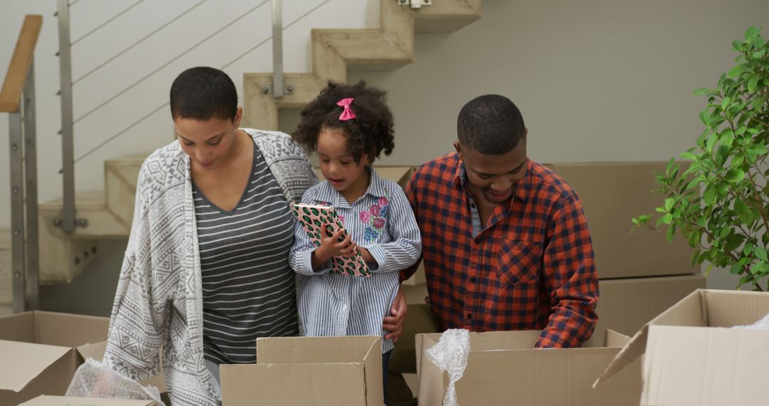
POLYGON ((509 98, 482 95, 459 111, 457 135, 464 147, 484 155, 502 155, 524 138, 526 126, 521 111, 509 98))

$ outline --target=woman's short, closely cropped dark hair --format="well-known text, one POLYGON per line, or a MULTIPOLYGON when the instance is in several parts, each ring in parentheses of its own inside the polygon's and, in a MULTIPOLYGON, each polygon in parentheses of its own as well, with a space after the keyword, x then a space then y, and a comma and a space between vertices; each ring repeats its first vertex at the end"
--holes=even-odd
POLYGON ((171 85, 171 118, 233 120, 238 113, 238 91, 225 73, 198 66, 181 72, 171 85))

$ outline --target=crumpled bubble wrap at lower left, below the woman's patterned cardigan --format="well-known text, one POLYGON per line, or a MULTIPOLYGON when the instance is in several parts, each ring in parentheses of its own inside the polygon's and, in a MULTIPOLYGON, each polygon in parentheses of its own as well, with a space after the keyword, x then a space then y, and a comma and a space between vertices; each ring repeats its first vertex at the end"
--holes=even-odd
POLYGON ((145 399, 164 405, 154 386, 141 386, 93 358, 80 365, 69 384, 66 396, 79 398, 145 399))

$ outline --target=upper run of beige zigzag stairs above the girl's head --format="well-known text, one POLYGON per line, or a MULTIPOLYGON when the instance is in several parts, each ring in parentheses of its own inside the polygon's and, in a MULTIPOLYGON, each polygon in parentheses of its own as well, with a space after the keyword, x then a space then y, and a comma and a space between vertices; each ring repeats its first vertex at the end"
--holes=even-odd
POLYGON ((313 29, 312 72, 288 73, 293 94, 275 99, 263 89, 272 75, 244 75, 245 127, 278 129, 278 108, 301 108, 329 80, 347 82, 347 69, 395 69, 414 62, 414 32, 453 32, 481 18, 481 0, 439 0, 413 10, 395 0, 381 0, 378 29, 313 29))

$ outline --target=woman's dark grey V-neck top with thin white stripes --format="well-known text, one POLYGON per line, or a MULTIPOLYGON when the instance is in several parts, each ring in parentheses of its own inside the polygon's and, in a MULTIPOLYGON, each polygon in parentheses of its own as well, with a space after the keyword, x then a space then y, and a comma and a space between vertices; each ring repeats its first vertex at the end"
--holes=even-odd
POLYGON ((238 205, 225 211, 192 185, 203 285, 203 351, 217 364, 256 361, 258 337, 298 334, 288 268, 294 218, 261 151, 238 205))

